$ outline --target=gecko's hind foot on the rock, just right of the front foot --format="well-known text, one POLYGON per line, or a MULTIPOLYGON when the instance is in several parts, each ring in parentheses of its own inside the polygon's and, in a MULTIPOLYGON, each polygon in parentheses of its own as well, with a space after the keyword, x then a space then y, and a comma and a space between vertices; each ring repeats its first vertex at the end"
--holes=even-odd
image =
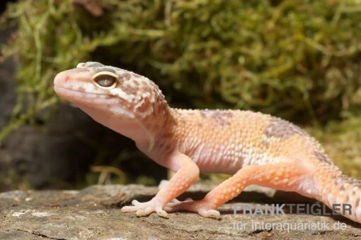
POLYGON ((167 212, 175 212, 179 210, 186 210, 190 212, 197 212, 197 214, 202 217, 211 217, 214 219, 218 219, 221 214, 219 211, 214 210, 207 206, 208 204, 202 200, 192 200, 191 198, 185 199, 183 202, 179 200, 173 200, 173 202, 168 203, 164 210, 167 212))

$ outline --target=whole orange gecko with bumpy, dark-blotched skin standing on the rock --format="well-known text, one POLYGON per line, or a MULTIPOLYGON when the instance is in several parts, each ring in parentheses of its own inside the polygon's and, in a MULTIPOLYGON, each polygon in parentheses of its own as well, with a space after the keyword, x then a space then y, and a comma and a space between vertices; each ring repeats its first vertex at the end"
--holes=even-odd
POLYGON ((345 217, 361 222, 361 181, 342 175, 321 145, 288 121, 249 111, 173 109, 148 78, 97 62, 59 73, 55 91, 176 172, 149 202, 134 200, 122 212, 166 217, 189 210, 217 218, 219 205, 257 184, 295 191, 329 207, 351 204, 352 215, 345 217), (202 200, 176 200, 200 172, 233 176, 202 200))

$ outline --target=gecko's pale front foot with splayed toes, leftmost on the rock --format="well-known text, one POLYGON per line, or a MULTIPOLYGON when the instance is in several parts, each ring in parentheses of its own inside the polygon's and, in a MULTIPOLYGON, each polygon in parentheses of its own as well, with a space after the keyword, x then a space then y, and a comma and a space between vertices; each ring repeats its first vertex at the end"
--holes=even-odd
POLYGON ((162 205, 156 200, 150 200, 145 203, 139 203, 137 200, 132 200, 132 206, 122 207, 122 212, 135 212, 137 217, 143 217, 156 212, 159 217, 167 217, 168 214, 163 210, 162 205))

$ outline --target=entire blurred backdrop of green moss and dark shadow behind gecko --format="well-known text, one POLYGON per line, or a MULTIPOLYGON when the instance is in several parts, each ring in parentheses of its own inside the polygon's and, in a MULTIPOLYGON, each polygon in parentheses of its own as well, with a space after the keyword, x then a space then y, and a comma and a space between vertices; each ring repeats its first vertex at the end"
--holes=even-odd
POLYGON ((55 95, 55 75, 84 61, 147 76, 172 107, 292 121, 361 179, 359 0, 2 4, 0 191, 166 179, 131 140, 55 95))

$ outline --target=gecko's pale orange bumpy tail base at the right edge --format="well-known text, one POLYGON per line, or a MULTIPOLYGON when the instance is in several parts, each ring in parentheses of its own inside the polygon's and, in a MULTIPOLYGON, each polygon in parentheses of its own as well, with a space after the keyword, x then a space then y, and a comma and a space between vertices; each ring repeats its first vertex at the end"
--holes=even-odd
POLYGON ((340 174, 334 167, 318 177, 321 186, 319 200, 344 217, 361 223, 361 181, 340 174))

